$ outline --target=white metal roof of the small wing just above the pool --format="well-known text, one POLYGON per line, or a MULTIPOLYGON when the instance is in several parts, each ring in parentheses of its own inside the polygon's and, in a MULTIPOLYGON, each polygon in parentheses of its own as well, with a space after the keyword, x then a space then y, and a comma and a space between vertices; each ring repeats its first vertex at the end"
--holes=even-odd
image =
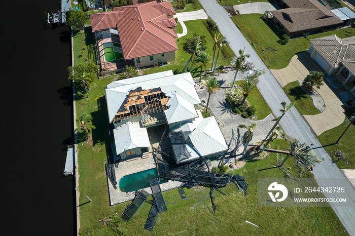
POLYGON ((127 122, 113 130, 115 137, 116 152, 136 147, 150 147, 148 132, 146 128, 140 128, 139 122, 127 122))

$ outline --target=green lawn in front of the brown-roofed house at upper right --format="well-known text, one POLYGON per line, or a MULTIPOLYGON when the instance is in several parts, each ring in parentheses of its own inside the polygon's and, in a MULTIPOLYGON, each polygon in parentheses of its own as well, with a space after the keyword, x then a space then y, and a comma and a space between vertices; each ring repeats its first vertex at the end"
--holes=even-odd
MULTIPOLYGON (((233 16, 231 19, 269 69, 285 68, 296 53, 303 52, 310 46, 309 41, 304 37, 293 38, 288 44, 281 45, 279 42, 282 40, 282 35, 271 22, 263 19, 262 14, 245 14, 233 16), (262 53, 264 49, 265 51, 262 53)), ((313 34, 307 36, 307 38, 311 39, 333 34, 338 35, 340 38, 354 36, 355 27, 313 34)))

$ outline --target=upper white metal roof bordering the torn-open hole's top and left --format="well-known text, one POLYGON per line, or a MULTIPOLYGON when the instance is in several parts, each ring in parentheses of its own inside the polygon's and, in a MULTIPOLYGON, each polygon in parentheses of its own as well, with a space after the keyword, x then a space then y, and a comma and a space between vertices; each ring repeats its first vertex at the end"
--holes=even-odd
MULTIPOLYGON (((118 85, 105 89, 109 122, 112 122, 118 109, 131 89, 141 87, 143 90, 160 88, 163 93, 175 92, 192 104, 199 104, 200 98, 195 89, 195 82, 190 73, 175 74, 171 76, 149 78, 138 76, 131 78, 132 83, 118 85), (143 81, 140 79, 143 77, 143 81)), ((123 81, 123 80, 122 80, 123 81)), ((112 84, 112 83, 111 83, 112 84)), ((110 85, 111 85, 110 84, 110 85)))

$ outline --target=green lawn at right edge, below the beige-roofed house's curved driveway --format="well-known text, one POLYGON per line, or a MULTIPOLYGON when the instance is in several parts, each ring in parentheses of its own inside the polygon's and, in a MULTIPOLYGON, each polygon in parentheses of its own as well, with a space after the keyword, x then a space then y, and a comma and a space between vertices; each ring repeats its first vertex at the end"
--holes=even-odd
MULTIPOLYGON (((346 107, 346 114, 348 115, 348 117, 350 117, 354 113, 355 108, 346 107)), ((318 140, 322 143, 324 149, 326 149, 328 153, 336 149, 345 153, 346 158, 339 162, 336 162, 337 166, 340 169, 355 169, 355 126, 350 125, 349 129, 340 139, 339 144, 333 145, 348 126, 349 122, 347 122, 346 120, 349 119, 346 117, 341 125, 331 130, 327 130, 323 134, 319 135, 318 140)))

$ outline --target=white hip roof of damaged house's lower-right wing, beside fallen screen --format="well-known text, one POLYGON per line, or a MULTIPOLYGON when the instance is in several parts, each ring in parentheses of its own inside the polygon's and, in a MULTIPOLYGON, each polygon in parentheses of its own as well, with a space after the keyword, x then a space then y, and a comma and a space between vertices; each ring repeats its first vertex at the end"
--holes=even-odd
POLYGON ((228 149, 226 140, 216 121, 215 116, 203 118, 201 111, 197 110, 199 117, 194 121, 189 121, 174 131, 192 131, 189 137, 195 148, 186 145, 191 154, 191 158, 184 160, 190 161, 201 156, 206 156, 228 149))

